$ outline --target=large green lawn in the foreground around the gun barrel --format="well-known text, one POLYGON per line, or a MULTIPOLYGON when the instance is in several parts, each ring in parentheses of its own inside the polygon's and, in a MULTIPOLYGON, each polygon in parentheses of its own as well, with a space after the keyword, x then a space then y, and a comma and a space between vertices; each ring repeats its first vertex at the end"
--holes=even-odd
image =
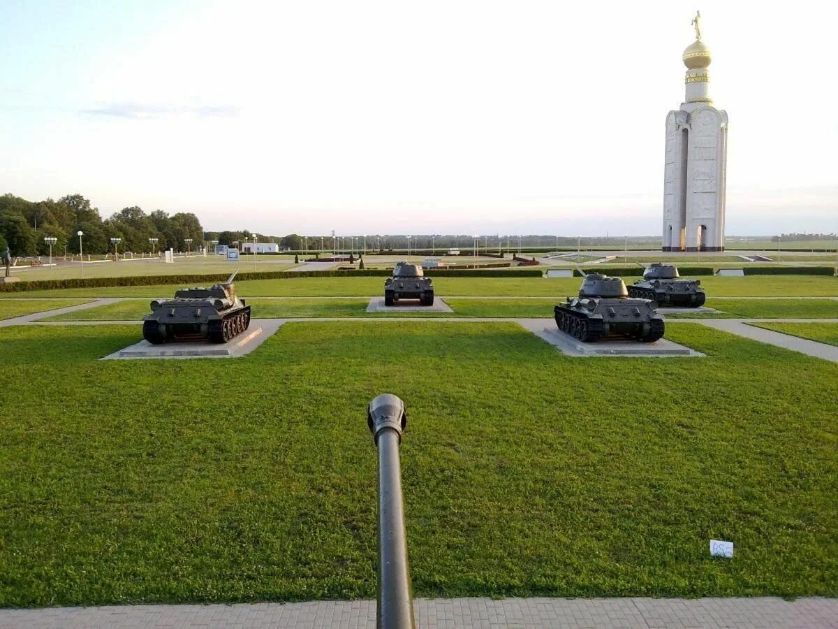
POLYGON ((705 358, 380 321, 96 360, 136 337, 0 329, 0 606, 375 597, 385 391, 408 407, 417 596, 838 595, 830 362, 688 323, 667 337, 705 358))

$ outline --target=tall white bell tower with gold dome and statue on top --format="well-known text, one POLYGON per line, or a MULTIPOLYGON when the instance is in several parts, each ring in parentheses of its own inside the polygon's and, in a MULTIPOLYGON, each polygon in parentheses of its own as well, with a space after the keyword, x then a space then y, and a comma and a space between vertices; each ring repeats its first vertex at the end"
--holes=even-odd
POLYGON ((666 117, 664 251, 722 251, 725 247, 727 188, 727 112, 710 98, 710 49, 701 41, 687 46, 686 97, 666 117))

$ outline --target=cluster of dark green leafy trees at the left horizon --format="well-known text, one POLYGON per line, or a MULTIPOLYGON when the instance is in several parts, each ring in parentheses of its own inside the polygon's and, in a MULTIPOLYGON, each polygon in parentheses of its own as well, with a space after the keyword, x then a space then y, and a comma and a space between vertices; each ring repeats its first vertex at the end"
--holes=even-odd
POLYGON ((0 250, 8 247, 13 256, 46 255, 49 245, 44 237, 56 239, 53 255, 78 253, 78 231, 83 232, 81 247, 85 253, 112 252, 111 238, 122 238, 120 252, 136 253, 152 251, 149 238, 158 239, 155 251, 186 251, 187 238, 193 239, 193 248, 204 241, 204 228, 191 212, 169 215, 155 210, 146 214, 134 205, 103 221, 98 208, 82 195, 43 201, 0 196, 0 250))

